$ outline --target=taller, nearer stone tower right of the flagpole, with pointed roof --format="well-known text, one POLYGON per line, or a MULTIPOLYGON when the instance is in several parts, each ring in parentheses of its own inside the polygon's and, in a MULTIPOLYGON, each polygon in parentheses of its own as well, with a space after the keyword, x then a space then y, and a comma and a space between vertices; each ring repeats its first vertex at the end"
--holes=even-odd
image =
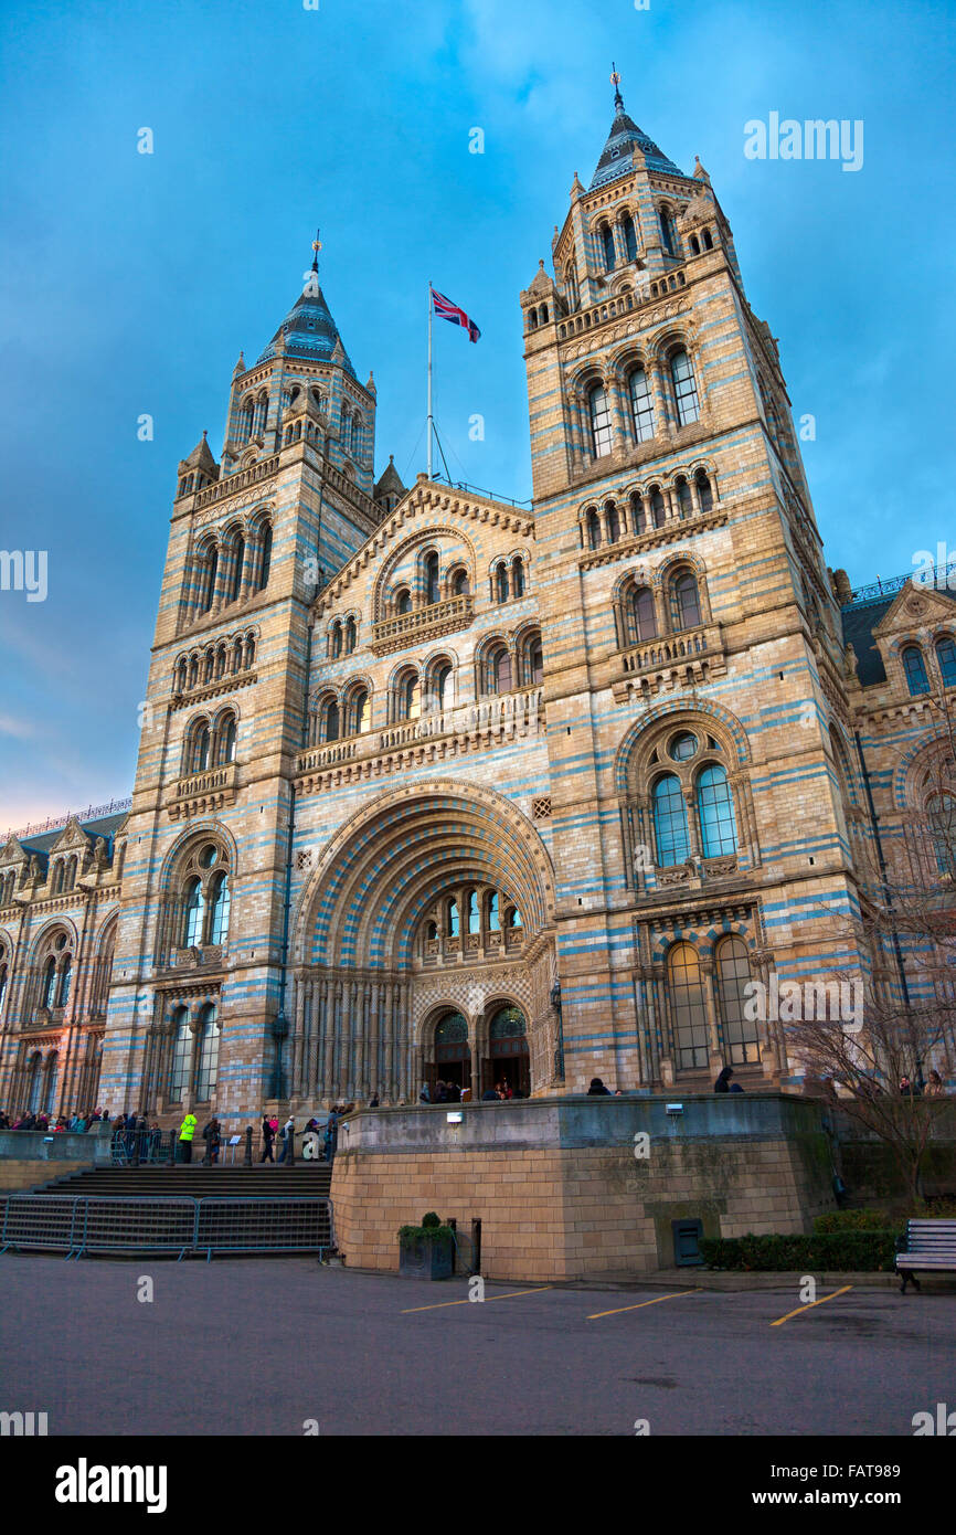
POLYGON ((838 609, 710 178, 612 81, 554 275, 520 295, 569 1078, 703 1087, 732 1059, 778 1079, 780 1028, 741 1044, 729 966, 803 978, 849 953, 838 609))

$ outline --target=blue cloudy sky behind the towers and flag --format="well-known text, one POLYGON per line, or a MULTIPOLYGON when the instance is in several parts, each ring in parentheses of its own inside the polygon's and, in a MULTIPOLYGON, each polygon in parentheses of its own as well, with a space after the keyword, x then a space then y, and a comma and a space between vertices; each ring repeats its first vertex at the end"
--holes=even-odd
POLYGON ((634 120, 710 172, 816 418, 827 562, 861 583, 953 546, 947 5, 6 0, 0 43, 0 546, 49 559, 46 602, 0 593, 0 830, 129 792, 176 462, 203 428, 218 454, 239 347, 292 305, 318 223, 379 471, 424 468, 431 278, 482 327, 436 330, 453 473, 529 494, 517 295, 591 177, 612 58, 634 120), (772 111, 861 118, 862 169, 744 158, 772 111))

